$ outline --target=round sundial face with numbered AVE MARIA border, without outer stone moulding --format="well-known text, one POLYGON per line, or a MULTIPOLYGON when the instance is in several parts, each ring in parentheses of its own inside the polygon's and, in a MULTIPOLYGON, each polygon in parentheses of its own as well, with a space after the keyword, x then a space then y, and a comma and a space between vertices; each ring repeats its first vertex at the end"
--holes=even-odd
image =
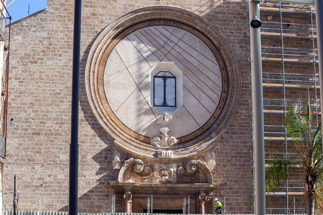
MULTIPOLYGON (((104 69, 98 78, 109 116, 120 130, 146 143, 159 133, 155 123, 163 112, 149 104, 149 71, 159 62, 172 62, 183 73, 182 95, 176 95, 183 104, 170 114, 169 125, 179 144, 206 132, 216 121, 225 105, 228 78, 224 63, 217 59, 221 56, 203 34, 180 22, 151 20, 131 26, 114 42, 107 48, 108 58, 100 62, 104 69)), ((174 73, 172 68, 160 71, 174 73)))

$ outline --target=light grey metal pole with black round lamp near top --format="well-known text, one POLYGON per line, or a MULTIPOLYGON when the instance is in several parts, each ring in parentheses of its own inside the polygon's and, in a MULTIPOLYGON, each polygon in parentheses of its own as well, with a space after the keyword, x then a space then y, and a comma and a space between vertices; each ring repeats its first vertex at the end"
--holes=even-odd
MULTIPOLYGON (((251 23, 259 19, 259 1, 249 0, 251 23)), ((255 214, 266 214, 264 105, 262 88, 261 40, 259 23, 250 26, 252 100, 254 112, 255 214), (257 25, 258 24, 258 25, 257 25)))

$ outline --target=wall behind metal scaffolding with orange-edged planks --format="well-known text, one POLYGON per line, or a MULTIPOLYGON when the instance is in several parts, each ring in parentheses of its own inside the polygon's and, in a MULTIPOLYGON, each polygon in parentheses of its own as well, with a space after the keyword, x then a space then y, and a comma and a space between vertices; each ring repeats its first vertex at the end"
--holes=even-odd
MULTIPOLYGON (((315 7, 266 1, 260 2, 260 15, 265 158, 277 155, 277 152, 291 157, 296 154, 285 127, 285 115, 289 106, 300 103, 305 107, 309 101, 316 126, 320 121, 315 7)), ((249 77, 252 114, 251 70, 249 77)), ((251 142, 253 143, 253 135, 251 142)), ((253 153, 251 158, 253 160, 253 153)), ((254 187, 254 180, 252 181, 254 187)), ((305 213, 305 182, 301 175, 290 177, 281 184, 282 187, 277 188, 275 194, 269 193, 267 212, 305 213)))

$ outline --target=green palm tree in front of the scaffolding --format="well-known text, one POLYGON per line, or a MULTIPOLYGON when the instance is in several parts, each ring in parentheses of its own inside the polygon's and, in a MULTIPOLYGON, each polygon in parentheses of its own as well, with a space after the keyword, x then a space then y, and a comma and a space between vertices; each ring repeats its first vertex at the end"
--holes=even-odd
POLYGON ((307 214, 323 214, 322 125, 320 122, 316 129, 313 128, 309 102, 306 115, 301 115, 301 111, 300 104, 292 104, 286 113, 286 130, 294 142, 296 154, 289 157, 278 153, 266 160, 266 192, 275 193, 281 181, 301 172, 305 181, 307 214))

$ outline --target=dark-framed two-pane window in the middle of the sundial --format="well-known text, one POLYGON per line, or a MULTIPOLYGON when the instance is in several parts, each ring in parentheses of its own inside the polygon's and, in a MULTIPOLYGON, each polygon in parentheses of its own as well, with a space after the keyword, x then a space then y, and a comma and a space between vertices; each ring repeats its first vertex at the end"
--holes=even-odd
POLYGON ((154 76, 154 106, 176 107, 176 77, 170 72, 154 76))

